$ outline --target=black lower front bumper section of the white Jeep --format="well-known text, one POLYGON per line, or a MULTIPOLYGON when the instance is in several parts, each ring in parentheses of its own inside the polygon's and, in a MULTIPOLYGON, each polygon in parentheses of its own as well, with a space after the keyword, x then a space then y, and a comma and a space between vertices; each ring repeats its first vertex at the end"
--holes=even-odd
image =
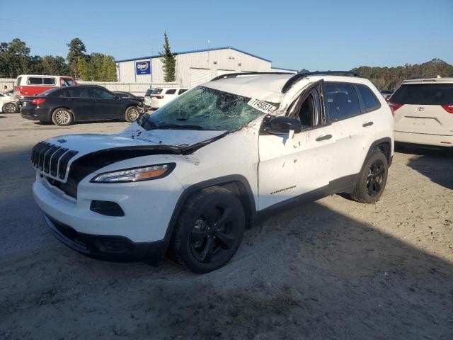
POLYGON ((132 242, 127 237, 84 234, 45 214, 50 232, 69 248, 101 259, 134 260, 147 258, 159 262, 164 258, 168 244, 160 242, 132 242))

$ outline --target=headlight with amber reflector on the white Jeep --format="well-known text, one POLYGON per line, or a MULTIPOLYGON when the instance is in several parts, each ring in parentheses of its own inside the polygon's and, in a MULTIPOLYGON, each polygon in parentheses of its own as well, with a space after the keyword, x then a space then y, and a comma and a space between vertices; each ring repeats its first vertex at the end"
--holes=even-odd
POLYGON ((161 179, 175 169, 176 163, 140 166, 139 168, 110 171, 93 177, 93 183, 124 183, 161 179))

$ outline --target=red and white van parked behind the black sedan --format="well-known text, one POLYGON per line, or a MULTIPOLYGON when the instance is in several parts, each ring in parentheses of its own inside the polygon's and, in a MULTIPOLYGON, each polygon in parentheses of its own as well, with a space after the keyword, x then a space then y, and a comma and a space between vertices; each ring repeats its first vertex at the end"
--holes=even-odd
POLYGON ((55 87, 74 85, 78 83, 71 77, 21 74, 14 84, 14 95, 16 97, 36 96, 55 87))

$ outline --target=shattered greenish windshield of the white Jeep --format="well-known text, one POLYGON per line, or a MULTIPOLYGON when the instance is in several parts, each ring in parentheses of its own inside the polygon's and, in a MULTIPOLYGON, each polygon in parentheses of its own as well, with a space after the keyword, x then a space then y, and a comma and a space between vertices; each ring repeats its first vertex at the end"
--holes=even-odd
POLYGON ((237 130, 264 115, 248 105, 251 98, 197 86, 140 121, 142 128, 237 130))

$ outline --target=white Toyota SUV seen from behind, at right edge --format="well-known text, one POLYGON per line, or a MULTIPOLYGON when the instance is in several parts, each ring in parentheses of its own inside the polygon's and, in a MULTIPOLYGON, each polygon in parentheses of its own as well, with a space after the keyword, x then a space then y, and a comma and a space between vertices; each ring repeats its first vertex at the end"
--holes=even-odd
POLYGON ((403 81, 389 105, 396 142, 453 147, 453 78, 403 81))

